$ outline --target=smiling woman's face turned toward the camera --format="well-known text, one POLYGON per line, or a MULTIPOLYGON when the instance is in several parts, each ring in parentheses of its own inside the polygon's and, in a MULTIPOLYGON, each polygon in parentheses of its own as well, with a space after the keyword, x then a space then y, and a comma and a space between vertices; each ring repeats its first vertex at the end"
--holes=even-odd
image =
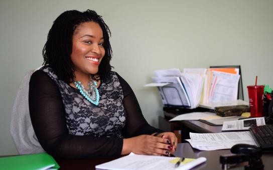
POLYGON ((103 32, 98 23, 83 22, 72 37, 71 60, 77 74, 96 74, 105 54, 103 32))

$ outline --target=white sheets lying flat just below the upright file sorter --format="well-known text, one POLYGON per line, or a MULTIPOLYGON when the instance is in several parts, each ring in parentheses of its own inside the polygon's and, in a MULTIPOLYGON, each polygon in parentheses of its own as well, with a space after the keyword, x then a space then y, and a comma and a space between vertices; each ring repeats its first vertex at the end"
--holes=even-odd
POLYGON ((221 116, 216 115, 214 112, 191 112, 191 113, 185 113, 180 114, 178 116, 175 116, 174 118, 170 119, 169 121, 176 121, 176 120, 199 120, 199 119, 205 119, 209 116, 215 116, 218 118, 222 118, 221 116))

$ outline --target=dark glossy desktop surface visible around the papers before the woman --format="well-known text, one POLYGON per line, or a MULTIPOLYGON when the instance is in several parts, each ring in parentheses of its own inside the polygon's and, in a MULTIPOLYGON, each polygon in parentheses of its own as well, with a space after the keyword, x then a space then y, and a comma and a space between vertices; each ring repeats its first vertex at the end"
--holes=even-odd
MULTIPOLYGON (((212 150, 212 151, 201 151, 191 147, 189 143, 179 143, 175 152, 176 156, 197 158, 206 157, 207 161, 203 164, 196 166, 194 169, 221 169, 221 164, 219 163, 219 156, 222 154, 230 154, 229 149, 224 150, 212 150)), ((264 169, 272 169, 273 153, 267 153, 262 155, 262 161, 264 164, 264 169)), ((95 169, 95 165, 104 163, 111 159, 80 159, 80 160, 62 160, 56 159, 62 169, 95 169)))

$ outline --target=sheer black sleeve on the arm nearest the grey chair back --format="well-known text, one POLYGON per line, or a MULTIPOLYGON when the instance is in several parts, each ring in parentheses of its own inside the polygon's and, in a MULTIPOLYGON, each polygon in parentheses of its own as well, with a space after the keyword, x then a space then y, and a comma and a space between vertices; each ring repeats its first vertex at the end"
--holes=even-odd
POLYGON ((70 135, 61 93, 42 70, 30 79, 29 108, 34 131, 48 153, 61 158, 120 156, 123 139, 70 135))

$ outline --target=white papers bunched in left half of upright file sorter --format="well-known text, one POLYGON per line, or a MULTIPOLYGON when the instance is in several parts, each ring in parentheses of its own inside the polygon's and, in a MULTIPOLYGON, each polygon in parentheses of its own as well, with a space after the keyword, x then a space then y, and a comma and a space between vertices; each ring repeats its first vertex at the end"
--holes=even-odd
POLYGON ((198 71, 186 69, 162 69, 155 71, 153 82, 146 86, 158 86, 163 104, 196 108, 200 102, 204 77, 198 71), (193 72, 192 72, 193 71, 193 72))

